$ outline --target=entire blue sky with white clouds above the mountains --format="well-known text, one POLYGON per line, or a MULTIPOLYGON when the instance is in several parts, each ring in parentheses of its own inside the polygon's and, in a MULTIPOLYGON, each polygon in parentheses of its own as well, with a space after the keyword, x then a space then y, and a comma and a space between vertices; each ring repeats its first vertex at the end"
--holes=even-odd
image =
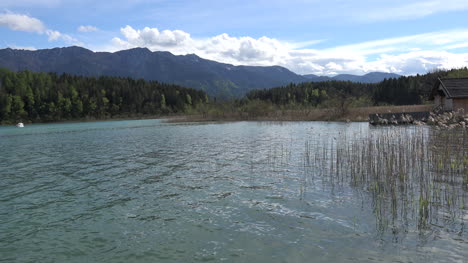
POLYGON ((134 47, 298 74, 468 66, 467 0, 1 0, 0 48, 134 47))

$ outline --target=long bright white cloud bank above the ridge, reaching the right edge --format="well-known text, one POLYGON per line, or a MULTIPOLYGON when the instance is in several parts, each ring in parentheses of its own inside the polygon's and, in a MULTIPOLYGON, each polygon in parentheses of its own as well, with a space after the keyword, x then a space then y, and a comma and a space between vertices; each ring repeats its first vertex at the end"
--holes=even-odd
MULTIPOLYGON (((194 53, 200 57, 234 65, 280 65, 299 74, 365 74, 372 71, 404 75, 425 73, 436 68, 468 65, 468 53, 450 53, 468 42, 468 29, 430 32, 367 41, 326 49, 305 48, 269 37, 233 37, 220 34, 192 38, 180 30, 131 26, 121 28, 123 38, 112 40, 113 50, 147 47, 177 55, 194 53)), ((310 41, 307 46, 320 41, 310 41)))

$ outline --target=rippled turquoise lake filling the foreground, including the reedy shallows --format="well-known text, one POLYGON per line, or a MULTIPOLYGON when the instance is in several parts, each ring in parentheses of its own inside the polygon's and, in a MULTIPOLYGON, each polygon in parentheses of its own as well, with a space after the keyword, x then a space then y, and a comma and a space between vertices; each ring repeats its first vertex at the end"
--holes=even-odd
POLYGON ((467 262, 468 136, 444 134, 326 122, 0 127, 0 262, 467 262))

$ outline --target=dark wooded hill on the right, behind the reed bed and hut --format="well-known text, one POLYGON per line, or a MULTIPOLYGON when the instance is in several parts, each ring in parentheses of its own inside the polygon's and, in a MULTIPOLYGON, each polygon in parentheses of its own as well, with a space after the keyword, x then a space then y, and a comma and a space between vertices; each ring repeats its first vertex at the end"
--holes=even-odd
POLYGON ((289 84, 278 88, 253 90, 246 95, 246 98, 280 106, 415 105, 429 101, 437 78, 444 77, 468 77, 468 69, 440 70, 424 75, 402 76, 397 79, 385 79, 375 84, 350 81, 289 84))

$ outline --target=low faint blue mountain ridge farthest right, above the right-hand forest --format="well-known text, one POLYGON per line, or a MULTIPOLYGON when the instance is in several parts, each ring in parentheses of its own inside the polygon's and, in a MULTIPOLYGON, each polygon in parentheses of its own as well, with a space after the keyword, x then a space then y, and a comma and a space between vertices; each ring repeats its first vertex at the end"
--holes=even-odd
POLYGON ((339 80, 339 81, 351 81, 351 82, 361 82, 361 83, 378 83, 384 79, 399 78, 401 77, 398 74, 394 73, 385 73, 385 72, 370 72, 363 76, 351 75, 351 74, 340 74, 334 77, 327 76, 317 76, 313 74, 303 75, 309 81, 321 82, 329 80, 339 80))

